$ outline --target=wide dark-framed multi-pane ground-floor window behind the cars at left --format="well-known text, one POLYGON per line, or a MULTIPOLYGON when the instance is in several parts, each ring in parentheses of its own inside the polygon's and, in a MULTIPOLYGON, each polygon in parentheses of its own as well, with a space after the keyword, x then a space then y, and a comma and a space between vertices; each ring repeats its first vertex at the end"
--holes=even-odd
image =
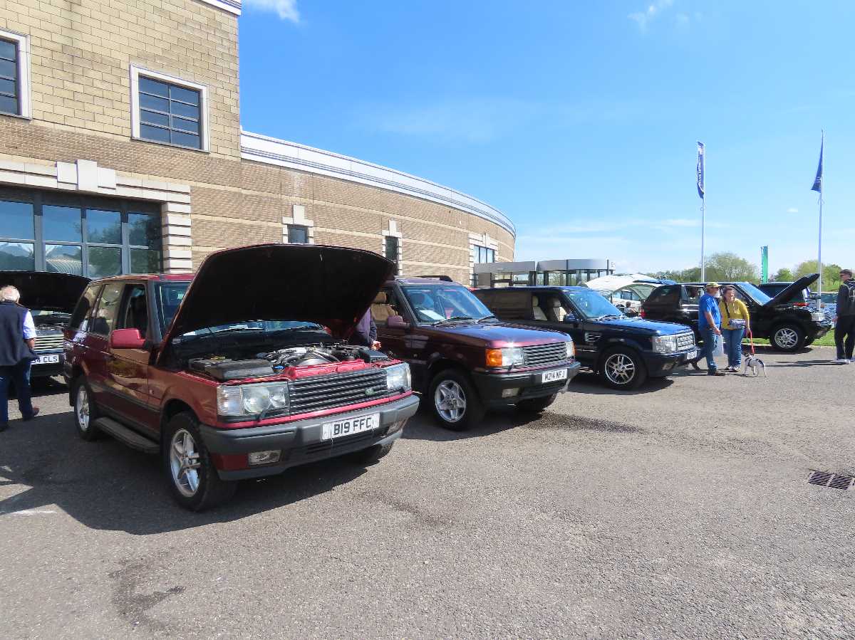
POLYGON ((160 214, 141 203, 0 190, 0 270, 160 273, 160 214))

